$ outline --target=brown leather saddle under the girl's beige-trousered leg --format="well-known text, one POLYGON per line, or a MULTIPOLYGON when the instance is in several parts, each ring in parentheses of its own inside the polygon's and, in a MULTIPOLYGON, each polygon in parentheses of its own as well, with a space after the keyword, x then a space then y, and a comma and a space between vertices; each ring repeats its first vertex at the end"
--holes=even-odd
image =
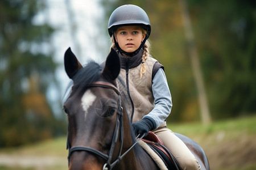
POLYGON ((150 146, 150 148, 163 160, 168 169, 181 169, 174 155, 163 146, 162 140, 152 131, 149 131, 148 135, 144 137, 142 141, 150 146))

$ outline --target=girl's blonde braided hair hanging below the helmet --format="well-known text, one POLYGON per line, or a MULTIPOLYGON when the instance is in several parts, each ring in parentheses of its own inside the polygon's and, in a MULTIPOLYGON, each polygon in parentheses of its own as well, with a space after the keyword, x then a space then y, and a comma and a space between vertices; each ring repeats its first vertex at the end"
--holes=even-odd
MULTIPOLYGON (((144 30, 142 28, 142 33, 147 33, 146 30, 144 30)), ((144 62, 147 60, 147 57, 150 56, 150 41, 147 39, 144 46, 142 47, 143 49, 143 54, 142 54, 142 64, 141 64, 141 69, 139 69, 139 74, 142 78, 142 75, 144 73, 146 73, 146 70, 147 70, 147 66, 144 64, 144 62)), ((111 49, 114 49, 114 50, 117 50, 116 46, 115 46, 115 43, 114 43, 114 37, 112 36, 112 45, 110 46, 110 50, 111 49)))

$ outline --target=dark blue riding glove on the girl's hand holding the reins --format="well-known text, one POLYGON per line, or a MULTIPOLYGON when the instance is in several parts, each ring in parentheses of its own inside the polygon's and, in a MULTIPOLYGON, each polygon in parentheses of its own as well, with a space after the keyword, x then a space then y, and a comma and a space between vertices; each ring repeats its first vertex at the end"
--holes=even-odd
POLYGON ((141 121, 133 123, 133 129, 136 135, 138 134, 148 134, 148 131, 154 128, 153 122, 148 118, 143 118, 141 121))

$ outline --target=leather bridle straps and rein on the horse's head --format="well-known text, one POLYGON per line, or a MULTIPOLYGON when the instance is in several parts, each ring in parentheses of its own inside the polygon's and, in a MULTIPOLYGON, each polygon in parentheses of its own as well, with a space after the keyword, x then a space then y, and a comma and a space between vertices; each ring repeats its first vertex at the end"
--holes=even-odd
POLYGON ((85 151, 85 152, 90 152, 91 154, 100 156, 102 159, 104 159, 106 162, 102 169, 110 170, 116 164, 118 164, 120 162, 120 160, 131 150, 131 148, 133 148, 139 142, 139 140, 141 140, 143 138, 143 135, 125 153, 123 153, 121 155, 121 151, 122 151, 122 147, 123 147, 123 108, 121 107, 121 93, 120 93, 118 87, 115 87, 113 84, 108 83, 108 82, 97 81, 97 82, 89 84, 88 87, 110 88, 110 89, 114 90, 119 97, 118 110, 117 110, 117 121, 115 123, 115 130, 114 130, 114 135, 113 135, 113 139, 112 139, 112 144, 110 146, 109 154, 106 155, 106 154, 102 153, 101 151, 98 151, 98 150, 96 150, 94 148, 90 148, 90 147, 85 147, 85 146, 70 147, 69 142, 67 140, 67 149, 69 150, 68 151, 68 164, 69 164, 69 160, 70 160, 70 157, 73 152, 85 151), (120 131, 119 141, 120 141, 121 145, 119 147, 117 159, 113 163, 111 163, 113 152, 114 152, 114 147, 115 147, 115 144, 117 143, 119 131, 120 131))

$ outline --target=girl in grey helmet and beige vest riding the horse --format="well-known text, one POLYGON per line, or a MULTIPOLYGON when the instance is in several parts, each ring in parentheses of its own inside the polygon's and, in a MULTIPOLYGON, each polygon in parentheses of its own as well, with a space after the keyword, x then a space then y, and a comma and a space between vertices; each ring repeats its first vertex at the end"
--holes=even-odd
POLYGON ((142 135, 153 131, 182 169, 200 169, 187 146, 166 128, 166 118, 172 107, 171 94, 164 67, 150 57, 147 39, 151 25, 146 12, 135 5, 120 6, 109 18, 108 31, 112 48, 119 54, 119 76, 126 83, 126 95, 130 100, 127 113, 135 133, 142 135))

